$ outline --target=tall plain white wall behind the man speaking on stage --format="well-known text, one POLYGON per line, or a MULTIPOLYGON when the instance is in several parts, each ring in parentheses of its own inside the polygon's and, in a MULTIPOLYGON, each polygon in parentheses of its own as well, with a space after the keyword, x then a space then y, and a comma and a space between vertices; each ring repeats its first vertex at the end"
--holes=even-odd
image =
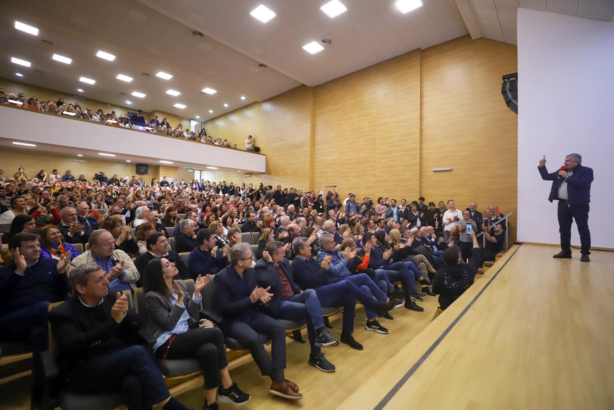
MULTIPOLYGON (((577 152, 594 170, 589 228, 593 246, 614 247, 614 23, 518 9, 518 240, 560 243, 548 171, 577 152)), ((572 245, 580 245, 572 227, 572 245)))

